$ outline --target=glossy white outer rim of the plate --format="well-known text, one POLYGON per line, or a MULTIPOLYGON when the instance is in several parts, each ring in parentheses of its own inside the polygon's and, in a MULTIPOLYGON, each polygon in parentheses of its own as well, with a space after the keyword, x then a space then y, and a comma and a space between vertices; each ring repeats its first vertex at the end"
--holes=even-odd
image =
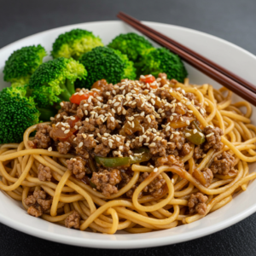
MULTIPOLYGON (((6 50, 9 47, 11 47, 13 44, 17 44, 22 42, 23 40, 26 40, 27 38, 32 38, 35 36, 38 36, 40 34, 43 33, 47 33, 47 32, 53 32, 55 30, 58 30, 60 28, 69 28, 69 27, 73 27, 73 26, 83 26, 84 24, 86 25, 90 25, 90 24, 106 24, 106 23, 117 23, 117 22, 122 22, 119 20, 102 20, 102 21, 92 21, 92 22, 83 22, 83 23, 79 23, 79 24, 73 24, 73 25, 68 25, 68 26, 60 26, 60 27, 55 27, 53 29, 49 29, 46 30, 44 32, 38 32, 35 33, 31 36, 28 36, 26 38, 22 38, 20 40, 15 41, 12 44, 8 44, 6 46, 4 46, 3 48, 1 48, 0 50, 6 50)), ((250 57, 253 57, 253 59, 256 61, 256 56, 253 55, 252 53, 248 52, 246 49, 242 49, 241 47, 237 46, 236 44, 232 44, 222 38, 218 38, 215 36, 212 36, 210 34, 207 34, 206 32, 200 32, 197 31, 195 29, 191 29, 191 28, 187 28, 187 27, 183 27, 183 26, 174 26, 174 25, 169 25, 169 24, 165 24, 165 23, 160 23, 160 22, 151 22, 151 21, 143 21, 143 23, 145 23, 146 25, 150 26, 150 25, 156 25, 156 26, 167 26, 167 27, 172 27, 172 28, 176 28, 178 30, 183 30, 183 31, 188 31, 188 32, 194 32, 197 34, 201 34, 207 38, 212 38, 214 40, 218 40, 219 42, 222 42, 224 44, 229 45, 232 48, 236 48, 239 49, 240 51, 242 51, 245 55, 248 55, 250 57)), ((169 245, 169 244, 174 244, 174 243, 178 243, 178 242, 183 242, 183 241, 189 241, 189 240, 194 240, 196 238, 202 237, 202 236, 207 236, 210 235, 214 232, 217 232, 219 230, 223 230, 227 227, 229 227, 232 224, 236 224, 237 222, 241 221, 244 218, 247 218, 249 215, 253 214, 253 212, 256 212, 256 203, 254 205, 252 205, 251 207, 247 207, 246 209, 244 209, 242 212, 240 212, 240 214, 236 214, 235 216, 233 216, 232 218, 229 218, 228 220, 225 221, 221 221, 218 224, 215 224, 214 226, 209 227, 205 227, 205 228, 201 228, 200 231, 201 232, 187 232, 186 234, 177 234, 176 236, 172 236, 172 241, 170 241, 170 239, 168 239, 168 236, 166 236, 165 238, 160 237, 160 238, 148 238, 148 239, 137 239, 137 240, 102 240, 102 239, 90 239, 90 238, 82 238, 82 237, 73 237, 73 236, 68 236, 68 240, 67 240, 67 236, 65 235, 60 235, 58 234, 56 236, 56 234, 50 232, 50 231, 44 231, 44 230, 40 230, 40 232, 38 232, 37 228, 34 228, 32 226, 28 226, 26 224, 23 224, 21 222, 15 221, 11 218, 9 218, 8 216, 4 216, 1 214, 0 212, 0 222, 2 222, 3 224, 8 225, 11 228, 14 228, 15 230, 20 230, 21 232, 24 232, 28 235, 32 235, 32 236, 37 236, 39 238, 43 238, 45 240, 49 240, 49 241, 56 241, 56 242, 61 242, 61 243, 66 243, 66 244, 70 244, 73 246, 83 246, 83 247, 100 247, 100 248, 109 248, 109 249, 120 249, 120 248, 140 248, 140 247, 158 247, 158 246, 164 246, 164 245, 169 245), (193 236, 192 236, 193 235, 193 236)), ((76 230, 74 230, 76 231, 76 230)), ((119 235, 103 235, 103 234, 98 234, 100 236, 123 236, 122 234, 119 235)), ((134 234, 129 234, 129 235, 125 235, 125 236, 136 236, 134 234)))

